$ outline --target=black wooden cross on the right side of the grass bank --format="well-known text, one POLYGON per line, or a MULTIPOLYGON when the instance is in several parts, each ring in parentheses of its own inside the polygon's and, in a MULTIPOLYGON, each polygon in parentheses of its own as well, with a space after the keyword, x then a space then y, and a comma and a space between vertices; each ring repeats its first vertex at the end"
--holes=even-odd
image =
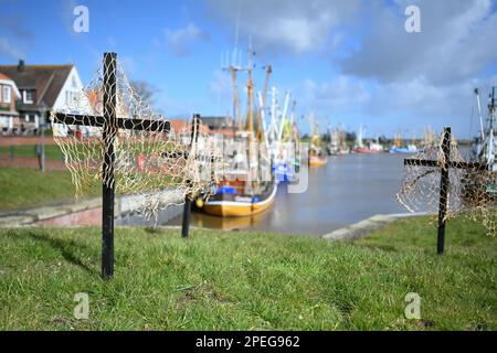
POLYGON ((440 200, 438 200, 438 237, 436 244, 436 253, 443 254, 445 247, 445 216, 447 214, 448 206, 448 170, 451 168, 455 169, 466 169, 466 170, 487 170, 487 165, 478 162, 459 162, 451 161, 451 128, 446 127, 444 129, 444 135, 442 139, 442 152, 444 153, 443 161, 434 160, 422 160, 408 158, 404 159, 404 165, 421 165, 421 167, 438 167, 441 169, 441 180, 440 180, 440 200))

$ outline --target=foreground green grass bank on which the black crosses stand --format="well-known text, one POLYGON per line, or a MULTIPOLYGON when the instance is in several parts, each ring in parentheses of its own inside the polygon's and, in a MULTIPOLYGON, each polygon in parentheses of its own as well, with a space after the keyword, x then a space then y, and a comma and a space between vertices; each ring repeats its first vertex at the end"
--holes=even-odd
POLYGON ((426 218, 358 243, 194 229, 117 228, 99 278, 98 228, 0 231, 0 330, 496 330, 497 243, 451 221, 435 255, 426 218), (89 296, 89 319, 73 315, 89 296), (422 320, 404 319, 421 296, 422 320))

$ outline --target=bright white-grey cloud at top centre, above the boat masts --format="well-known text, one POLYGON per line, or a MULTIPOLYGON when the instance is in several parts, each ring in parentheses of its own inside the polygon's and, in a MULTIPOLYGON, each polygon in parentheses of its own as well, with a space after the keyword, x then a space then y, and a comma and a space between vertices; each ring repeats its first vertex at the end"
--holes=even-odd
POLYGON ((306 53, 321 49, 332 29, 349 19, 358 1, 328 0, 209 0, 212 18, 235 33, 240 19, 240 35, 252 36, 257 50, 306 53))

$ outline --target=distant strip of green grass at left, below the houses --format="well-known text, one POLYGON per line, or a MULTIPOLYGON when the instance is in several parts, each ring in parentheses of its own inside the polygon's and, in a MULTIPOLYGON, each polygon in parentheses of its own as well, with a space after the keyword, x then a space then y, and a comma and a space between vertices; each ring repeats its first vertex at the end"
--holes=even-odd
MULTIPOLYGON (((88 188, 85 195, 98 194, 98 188, 88 188)), ((73 200, 75 189, 68 171, 0 168, 0 210, 29 208, 73 200)))

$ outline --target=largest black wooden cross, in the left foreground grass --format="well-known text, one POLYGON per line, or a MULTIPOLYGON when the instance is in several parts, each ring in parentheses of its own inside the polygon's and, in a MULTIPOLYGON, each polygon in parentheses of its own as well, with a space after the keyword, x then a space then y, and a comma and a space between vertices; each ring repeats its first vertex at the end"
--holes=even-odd
POLYGON ((114 142, 119 129, 170 131, 166 120, 119 118, 117 108, 116 53, 104 54, 103 116, 56 113, 54 124, 80 125, 103 129, 104 163, 102 165, 102 277, 114 276, 114 142))

